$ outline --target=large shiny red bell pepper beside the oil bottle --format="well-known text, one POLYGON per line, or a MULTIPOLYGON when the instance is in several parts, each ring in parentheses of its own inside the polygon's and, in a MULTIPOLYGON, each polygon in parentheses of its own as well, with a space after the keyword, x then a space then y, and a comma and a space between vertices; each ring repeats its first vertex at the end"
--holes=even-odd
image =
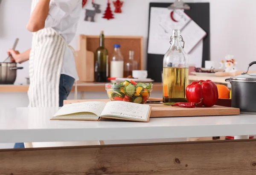
POLYGON ((186 99, 198 103, 197 107, 212 107, 218 101, 218 88, 211 80, 192 82, 186 87, 186 99))

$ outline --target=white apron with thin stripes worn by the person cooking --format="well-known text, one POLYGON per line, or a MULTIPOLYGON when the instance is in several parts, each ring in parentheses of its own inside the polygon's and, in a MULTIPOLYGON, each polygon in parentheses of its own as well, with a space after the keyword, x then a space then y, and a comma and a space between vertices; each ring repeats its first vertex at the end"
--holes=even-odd
POLYGON ((29 107, 58 107, 67 43, 53 28, 34 33, 29 56, 29 107))

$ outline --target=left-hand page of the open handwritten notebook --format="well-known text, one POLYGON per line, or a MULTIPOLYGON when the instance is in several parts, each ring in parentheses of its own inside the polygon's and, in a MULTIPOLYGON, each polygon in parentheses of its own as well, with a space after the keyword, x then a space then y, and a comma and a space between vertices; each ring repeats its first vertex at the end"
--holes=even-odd
POLYGON ((104 102, 81 102, 81 103, 73 103, 73 104, 65 104, 63 107, 61 107, 60 110, 58 110, 57 113, 55 113, 54 117, 56 116, 67 116, 70 114, 74 114, 73 116, 81 116, 89 115, 88 113, 94 113, 97 116, 100 116, 100 113, 104 109, 106 103, 104 102), (87 112, 87 113, 85 113, 87 112))

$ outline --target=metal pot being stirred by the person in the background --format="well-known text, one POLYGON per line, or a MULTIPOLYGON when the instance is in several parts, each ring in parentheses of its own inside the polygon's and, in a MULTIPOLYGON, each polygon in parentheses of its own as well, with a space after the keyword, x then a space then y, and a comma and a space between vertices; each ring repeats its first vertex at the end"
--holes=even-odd
POLYGON ((23 69, 23 67, 17 67, 16 62, 0 62, 0 84, 14 84, 17 69, 23 69))

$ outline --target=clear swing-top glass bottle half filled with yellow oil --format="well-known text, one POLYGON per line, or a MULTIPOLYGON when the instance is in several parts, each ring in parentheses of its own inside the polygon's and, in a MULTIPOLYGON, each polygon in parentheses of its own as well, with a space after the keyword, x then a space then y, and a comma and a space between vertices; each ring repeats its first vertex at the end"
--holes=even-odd
POLYGON ((186 102, 188 85, 188 56, 179 30, 172 31, 171 47, 163 58, 163 104, 186 102), (183 42, 183 46, 181 45, 183 42))

